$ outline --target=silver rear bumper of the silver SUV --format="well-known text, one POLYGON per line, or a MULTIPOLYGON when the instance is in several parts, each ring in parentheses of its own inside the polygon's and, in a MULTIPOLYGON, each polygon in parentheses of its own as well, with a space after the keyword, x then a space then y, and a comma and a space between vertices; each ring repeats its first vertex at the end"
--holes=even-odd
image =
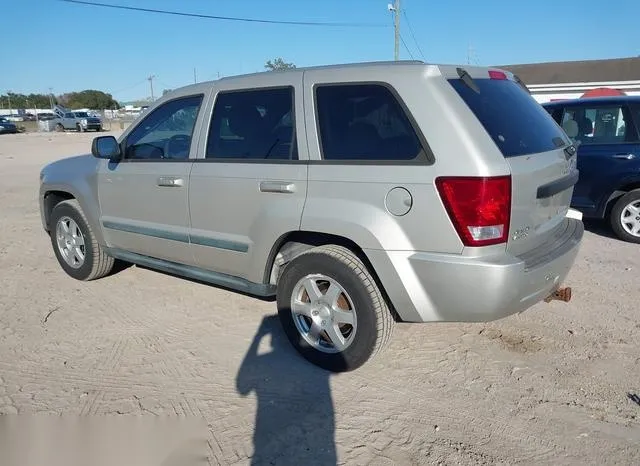
POLYGON ((406 322, 486 322, 522 312, 557 290, 584 234, 565 218, 545 244, 517 257, 468 257, 367 250, 385 291, 406 322))

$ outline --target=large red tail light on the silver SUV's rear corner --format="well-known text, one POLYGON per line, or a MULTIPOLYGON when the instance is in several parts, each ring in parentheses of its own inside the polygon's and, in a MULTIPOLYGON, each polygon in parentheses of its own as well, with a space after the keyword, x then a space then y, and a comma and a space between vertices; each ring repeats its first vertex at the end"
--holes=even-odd
POLYGON ((440 177, 436 187, 465 246, 505 243, 511 218, 511 176, 440 177))

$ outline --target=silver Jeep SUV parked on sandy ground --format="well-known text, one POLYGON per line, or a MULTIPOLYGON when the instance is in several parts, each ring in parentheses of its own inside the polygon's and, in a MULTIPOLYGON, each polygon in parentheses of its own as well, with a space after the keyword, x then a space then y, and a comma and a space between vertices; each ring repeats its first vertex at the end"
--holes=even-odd
POLYGON ((583 235, 575 148, 516 77, 422 62, 175 90, 118 140, 41 173, 70 276, 115 260, 259 297, 331 371, 396 322, 478 322, 561 288, 583 235))

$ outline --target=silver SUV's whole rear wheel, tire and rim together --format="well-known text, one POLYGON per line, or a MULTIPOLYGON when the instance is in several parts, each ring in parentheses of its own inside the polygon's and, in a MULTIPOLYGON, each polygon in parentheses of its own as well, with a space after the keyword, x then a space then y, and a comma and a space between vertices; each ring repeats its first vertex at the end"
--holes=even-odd
POLYGON ((278 315, 304 358, 332 372, 359 368, 389 342, 393 317, 371 273, 349 249, 300 254, 278 281, 278 315))

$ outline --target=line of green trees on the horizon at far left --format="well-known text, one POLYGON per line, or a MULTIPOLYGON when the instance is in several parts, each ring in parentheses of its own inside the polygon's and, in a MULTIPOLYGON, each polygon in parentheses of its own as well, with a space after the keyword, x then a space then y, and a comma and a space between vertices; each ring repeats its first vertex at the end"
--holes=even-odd
POLYGON ((90 108, 95 110, 118 109, 120 104, 111 94, 87 89, 80 92, 69 92, 61 95, 50 94, 17 94, 9 92, 0 95, 0 106, 11 107, 14 110, 30 108, 51 108, 53 105, 62 105, 67 108, 90 108))

